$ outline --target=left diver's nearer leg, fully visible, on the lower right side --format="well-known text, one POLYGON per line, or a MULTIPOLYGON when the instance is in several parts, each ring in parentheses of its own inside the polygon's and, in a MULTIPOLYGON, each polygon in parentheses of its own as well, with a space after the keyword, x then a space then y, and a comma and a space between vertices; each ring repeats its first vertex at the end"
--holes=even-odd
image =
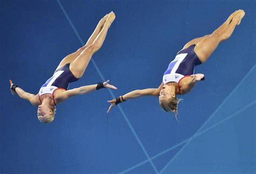
POLYGON ((97 52, 100 47, 102 47, 102 44, 106 38, 107 30, 109 30, 109 27, 111 26, 115 17, 116 16, 113 12, 109 13, 109 16, 107 17, 102 30, 99 32, 98 36, 95 38, 92 44, 88 45, 82 51, 82 53, 80 53, 80 55, 78 55, 78 57, 71 62, 70 71, 76 78, 80 78, 81 76, 83 76, 92 55, 97 52))

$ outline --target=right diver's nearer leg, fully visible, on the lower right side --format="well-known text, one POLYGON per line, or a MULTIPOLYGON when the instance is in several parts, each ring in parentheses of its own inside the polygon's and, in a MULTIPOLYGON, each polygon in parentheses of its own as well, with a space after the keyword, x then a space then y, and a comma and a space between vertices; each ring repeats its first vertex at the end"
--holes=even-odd
MULTIPOLYGON (((208 57, 212 54, 212 52, 217 48, 221 41, 224 41, 230 38, 233 33, 235 26, 238 25, 241 18, 244 17, 245 12, 243 10, 238 10, 237 13, 232 18, 232 21, 229 25, 227 25, 222 31, 215 30, 210 36, 201 40, 196 47, 194 48, 194 52, 198 55, 198 58, 201 62, 205 62, 208 57)), ((222 27, 222 26, 221 26, 222 27)))

